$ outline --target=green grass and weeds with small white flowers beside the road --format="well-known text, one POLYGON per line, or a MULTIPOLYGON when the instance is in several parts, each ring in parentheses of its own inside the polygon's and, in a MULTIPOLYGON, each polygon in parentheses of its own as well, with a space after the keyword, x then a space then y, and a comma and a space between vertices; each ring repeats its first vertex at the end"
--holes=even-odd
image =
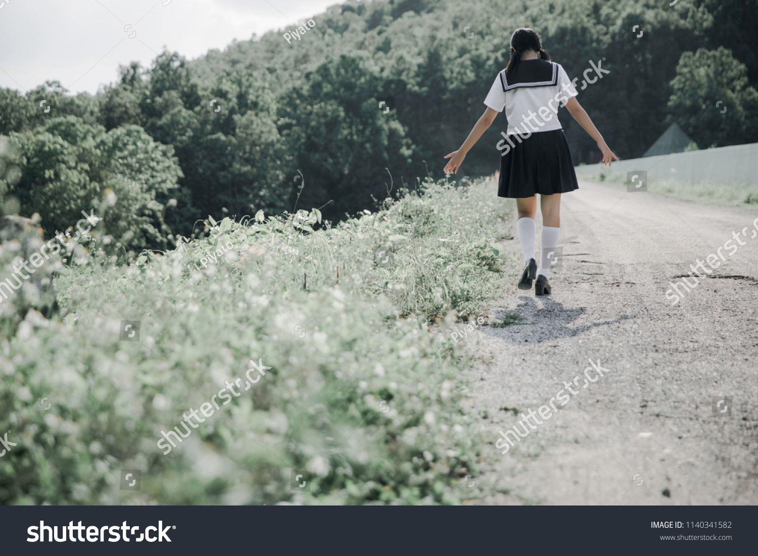
POLYGON ((429 324, 496 295, 512 205, 491 182, 422 192, 337 226, 209 220, 207 239, 124 266, 81 249, 55 278, 59 314, 5 315, 0 429, 17 447, 0 504, 459 503, 484 442, 469 361, 429 324), (251 359, 271 369, 245 391, 251 359), (161 430, 236 377, 240 396, 164 455, 161 430))

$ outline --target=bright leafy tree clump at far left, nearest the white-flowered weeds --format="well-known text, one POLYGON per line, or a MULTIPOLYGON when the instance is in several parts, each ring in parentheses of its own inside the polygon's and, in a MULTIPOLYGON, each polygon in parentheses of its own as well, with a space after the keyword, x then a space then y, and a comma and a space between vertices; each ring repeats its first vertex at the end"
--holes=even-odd
POLYGON ((20 214, 38 213, 48 235, 75 226, 81 211, 102 217, 103 233, 125 248, 165 248, 171 233, 156 195, 176 187, 180 167, 170 145, 160 145, 137 126, 106 133, 74 116, 11 133, 20 180, 0 189, 20 200, 20 214))

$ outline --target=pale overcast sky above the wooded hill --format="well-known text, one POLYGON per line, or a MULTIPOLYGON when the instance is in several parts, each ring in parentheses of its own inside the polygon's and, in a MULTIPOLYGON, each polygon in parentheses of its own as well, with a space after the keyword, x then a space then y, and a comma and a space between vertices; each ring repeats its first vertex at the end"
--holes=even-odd
MULTIPOLYGON (((119 64, 149 66, 164 46, 188 59, 233 39, 289 29, 339 0, 0 0, 0 86, 58 80, 97 92, 119 64), (164 5, 165 4, 165 5, 164 5), (124 27, 130 25, 124 31, 124 27), (135 33, 136 32, 136 33, 135 33)), ((283 47, 287 42, 283 42, 283 47)))

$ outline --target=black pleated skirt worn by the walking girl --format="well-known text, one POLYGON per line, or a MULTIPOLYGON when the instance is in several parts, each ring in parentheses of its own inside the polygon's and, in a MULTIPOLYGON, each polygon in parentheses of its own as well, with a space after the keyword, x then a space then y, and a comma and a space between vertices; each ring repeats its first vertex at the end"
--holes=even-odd
POLYGON ((532 133, 524 139, 509 136, 500 157, 498 197, 526 198, 579 189, 571 151, 563 130, 532 133))

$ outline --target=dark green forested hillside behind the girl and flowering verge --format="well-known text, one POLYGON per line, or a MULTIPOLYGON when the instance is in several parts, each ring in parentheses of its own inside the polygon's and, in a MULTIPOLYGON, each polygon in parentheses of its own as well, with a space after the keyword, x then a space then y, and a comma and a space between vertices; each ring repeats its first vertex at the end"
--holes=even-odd
MULTIPOLYGON (((293 24, 195 61, 164 52, 94 97, 58 83, 0 90, 0 193, 52 233, 110 189, 127 204, 106 230, 126 248, 202 233, 208 215, 292 211, 298 193, 299 208, 329 220, 374 209, 391 186, 442 176, 518 27, 578 78, 579 101, 622 158, 673 121, 700 148, 758 140, 756 2, 388 0, 311 22, 299 38, 283 36, 293 24)), ((560 117, 575 163, 596 161, 594 142, 560 117)), ((505 129, 501 116, 464 173, 496 169, 505 129)))

